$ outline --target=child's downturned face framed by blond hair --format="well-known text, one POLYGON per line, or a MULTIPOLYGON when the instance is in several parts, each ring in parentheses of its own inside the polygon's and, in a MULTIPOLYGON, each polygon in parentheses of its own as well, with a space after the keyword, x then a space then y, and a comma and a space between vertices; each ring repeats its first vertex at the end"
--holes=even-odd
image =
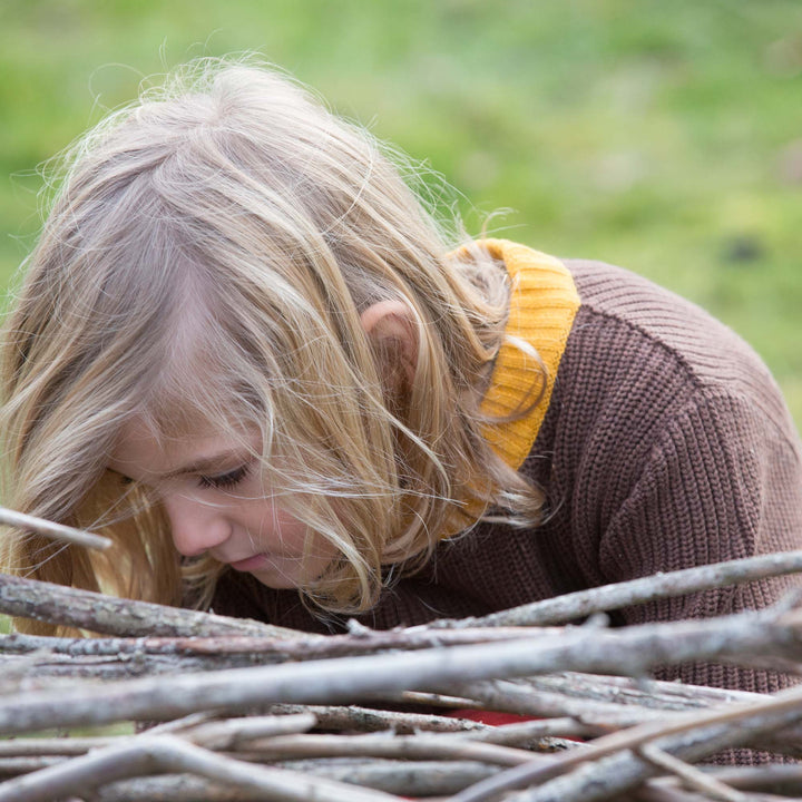
POLYGON ((260 446, 258 436, 221 434, 165 444, 137 420, 124 427, 108 467, 156 493, 185 557, 208 552, 267 587, 304 586, 331 563, 334 547, 316 537, 302 560, 307 527, 265 493, 260 446))

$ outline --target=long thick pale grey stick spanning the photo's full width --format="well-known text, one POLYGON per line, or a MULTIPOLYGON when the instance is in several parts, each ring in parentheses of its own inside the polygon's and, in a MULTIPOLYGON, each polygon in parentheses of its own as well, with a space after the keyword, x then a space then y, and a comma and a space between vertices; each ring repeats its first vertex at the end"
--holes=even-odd
POLYGON ((243 711, 275 702, 330 704, 405 689, 444 691, 454 682, 527 676, 554 671, 640 675, 649 665, 712 659, 737 652, 796 652, 799 614, 742 613, 707 620, 571 629, 521 638, 405 654, 340 657, 204 675, 159 676, 29 694, 0 702, 0 732, 175 717, 200 710, 243 711))

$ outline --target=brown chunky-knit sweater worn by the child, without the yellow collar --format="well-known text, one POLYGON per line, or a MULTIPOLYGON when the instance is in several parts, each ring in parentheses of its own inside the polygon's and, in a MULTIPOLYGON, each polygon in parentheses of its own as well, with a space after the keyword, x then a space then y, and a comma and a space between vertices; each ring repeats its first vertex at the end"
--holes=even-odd
MULTIPOLYGON (((481 525, 443 540, 418 575, 361 617, 388 628, 481 615, 657 571, 802 548, 802 457, 769 371, 693 304, 606 264, 567 261, 581 300, 537 440, 521 470, 549 516, 530 531, 481 525)), ((614 624, 764 607, 782 578, 655 602, 614 624)), ((297 629, 336 630, 294 591, 225 575, 214 609, 297 629)), ((775 691, 774 673, 691 665, 663 678, 775 691)))

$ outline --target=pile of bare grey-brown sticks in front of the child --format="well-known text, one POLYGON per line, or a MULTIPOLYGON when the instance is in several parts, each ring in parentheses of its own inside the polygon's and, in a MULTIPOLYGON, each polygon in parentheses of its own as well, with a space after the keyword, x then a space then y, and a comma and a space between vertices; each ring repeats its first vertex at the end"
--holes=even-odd
POLYGON ((0 802, 799 799, 802 764, 697 764, 741 747, 802 756, 802 687, 645 678, 695 661, 802 673, 796 599, 618 629, 602 614, 800 570, 802 552, 771 555, 334 636, 0 576, 0 613, 100 635, 0 636, 0 802), (537 720, 454 715, 476 710, 537 720))

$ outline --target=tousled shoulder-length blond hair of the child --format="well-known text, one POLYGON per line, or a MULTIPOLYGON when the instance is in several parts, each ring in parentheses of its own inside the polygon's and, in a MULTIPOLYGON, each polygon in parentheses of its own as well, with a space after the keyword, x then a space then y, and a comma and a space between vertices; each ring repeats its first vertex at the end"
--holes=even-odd
POLYGON ((540 492, 481 437, 506 273, 476 246, 449 255, 368 131, 274 69, 203 60, 66 164, 6 323, 6 503, 118 548, 7 535, 8 570, 168 604, 188 583, 208 603, 221 566, 182 565, 159 505, 106 469, 134 417, 160 438, 262 433, 271 491, 336 547, 303 588, 322 610, 368 609, 382 571, 422 565, 467 510, 537 520, 540 492), (415 321, 401 398, 360 323, 380 300, 415 321))

